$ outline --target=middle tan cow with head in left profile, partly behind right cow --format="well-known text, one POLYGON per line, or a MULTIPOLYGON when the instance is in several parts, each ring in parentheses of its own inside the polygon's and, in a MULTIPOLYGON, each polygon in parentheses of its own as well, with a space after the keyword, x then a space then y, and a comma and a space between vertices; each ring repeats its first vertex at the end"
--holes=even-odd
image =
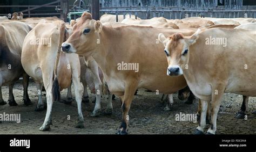
POLYGON ((84 12, 73 26, 72 35, 62 44, 65 53, 92 56, 102 69, 110 92, 121 98, 123 120, 118 134, 127 134, 128 114, 137 88, 171 94, 187 86, 183 76, 165 74, 167 62, 161 52, 164 47, 155 38, 160 31, 194 33, 145 26, 103 26, 93 20, 90 13, 84 12))

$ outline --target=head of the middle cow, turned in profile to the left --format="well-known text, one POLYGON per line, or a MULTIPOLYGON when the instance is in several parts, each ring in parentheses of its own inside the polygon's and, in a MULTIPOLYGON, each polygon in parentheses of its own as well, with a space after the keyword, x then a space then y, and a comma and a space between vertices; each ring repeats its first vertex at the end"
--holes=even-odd
POLYGON ((99 33, 102 31, 102 23, 93 20, 90 13, 84 12, 81 20, 73 25, 73 33, 69 39, 62 44, 65 53, 77 53, 88 56, 92 50, 97 49, 99 44, 99 33))

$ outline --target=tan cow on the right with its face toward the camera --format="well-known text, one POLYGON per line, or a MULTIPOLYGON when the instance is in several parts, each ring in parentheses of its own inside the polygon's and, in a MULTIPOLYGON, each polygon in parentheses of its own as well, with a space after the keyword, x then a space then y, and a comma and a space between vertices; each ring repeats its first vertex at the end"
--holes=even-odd
POLYGON ((207 134, 215 134, 217 113, 224 93, 256 96, 253 85, 256 83, 255 37, 256 31, 225 28, 211 28, 201 33, 198 29, 190 37, 175 33, 166 39, 159 34, 169 63, 167 75, 184 75, 191 91, 201 102, 200 123, 195 134, 204 133, 209 101, 211 125, 207 134), (227 44, 207 45, 209 38, 226 38, 227 44), (246 44, 241 39, 246 40, 246 44))

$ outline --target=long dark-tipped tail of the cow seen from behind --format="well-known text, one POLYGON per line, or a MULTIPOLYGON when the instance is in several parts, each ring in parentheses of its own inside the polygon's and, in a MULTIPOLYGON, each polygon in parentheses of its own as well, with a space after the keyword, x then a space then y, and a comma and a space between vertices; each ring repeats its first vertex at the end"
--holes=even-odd
POLYGON ((58 50, 57 50, 57 56, 55 60, 55 66, 54 66, 54 79, 52 84, 52 95, 53 95, 53 101, 59 101, 60 100, 60 89, 59 89, 59 82, 57 77, 57 68, 60 58, 60 50, 62 47, 62 42, 64 40, 64 34, 65 34, 65 23, 62 21, 59 24, 59 42, 58 42, 58 50))

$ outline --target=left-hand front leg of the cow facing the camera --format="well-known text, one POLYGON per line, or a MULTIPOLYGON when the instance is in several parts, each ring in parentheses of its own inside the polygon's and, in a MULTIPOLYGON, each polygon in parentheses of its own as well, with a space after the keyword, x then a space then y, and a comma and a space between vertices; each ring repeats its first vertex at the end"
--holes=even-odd
POLYGON ((200 122, 199 126, 197 127, 197 130, 194 134, 204 134, 204 128, 206 126, 206 113, 207 113, 207 106, 208 102, 206 100, 199 99, 200 104, 200 122))

